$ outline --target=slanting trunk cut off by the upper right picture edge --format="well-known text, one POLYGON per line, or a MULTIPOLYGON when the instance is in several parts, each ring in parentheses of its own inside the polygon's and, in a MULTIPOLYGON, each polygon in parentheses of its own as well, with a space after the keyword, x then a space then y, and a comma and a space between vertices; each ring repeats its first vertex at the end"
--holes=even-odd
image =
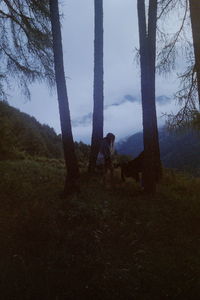
POLYGON ((197 72, 197 88, 200 107, 200 1, 189 0, 189 2, 195 56, 195 71, 197 72))

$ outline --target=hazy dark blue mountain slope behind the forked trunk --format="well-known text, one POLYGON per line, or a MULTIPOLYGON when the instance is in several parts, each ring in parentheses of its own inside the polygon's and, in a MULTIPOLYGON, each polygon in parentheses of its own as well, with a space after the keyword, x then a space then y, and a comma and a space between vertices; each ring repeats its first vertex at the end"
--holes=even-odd
MULTIPOLYGON (((159 129, 161 160, 167 168, 200 175, 200 133, 194 130, 173 133, 167 129, 159 129)), ((117 144, 120 154, 137 156, 143 149, 142 132, 130 136, 117 144)))

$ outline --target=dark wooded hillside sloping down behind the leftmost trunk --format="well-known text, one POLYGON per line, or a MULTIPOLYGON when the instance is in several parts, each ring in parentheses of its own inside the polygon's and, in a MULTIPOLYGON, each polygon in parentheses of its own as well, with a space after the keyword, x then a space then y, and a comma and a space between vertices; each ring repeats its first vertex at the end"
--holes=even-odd
MULTIPOLYGON (((26 157, 63 158, 61 135, 34 117, 0 101, 0 160, 26 157)), ((88 145, 75 143, 79 161, 89 156, 88 145)))

